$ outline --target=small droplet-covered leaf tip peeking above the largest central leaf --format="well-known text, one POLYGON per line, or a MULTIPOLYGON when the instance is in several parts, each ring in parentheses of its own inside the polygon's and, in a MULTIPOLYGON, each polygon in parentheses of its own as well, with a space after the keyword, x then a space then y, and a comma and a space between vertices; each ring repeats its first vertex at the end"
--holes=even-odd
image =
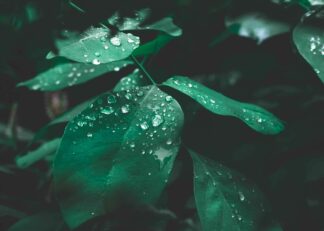
POLYGON ((126 91, 131 90, 136 87, 145 86, 146 81, 144 76, 138 68, 136 68, 133 73, 122 78, 117 85, 114 87, 114 91, 126 91))

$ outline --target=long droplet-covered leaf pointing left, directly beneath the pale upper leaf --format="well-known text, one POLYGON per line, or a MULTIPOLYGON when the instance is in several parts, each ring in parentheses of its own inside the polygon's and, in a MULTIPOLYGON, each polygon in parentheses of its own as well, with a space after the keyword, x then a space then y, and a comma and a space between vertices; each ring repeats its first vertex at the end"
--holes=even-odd
POLYGON ((33 79, 18 84, 18 86, 26 86, 32 90, 57 91, 87 82, 106 72, 119 71, 130 64, 132 64, 132 61, 129 60, 100 65, 64 62, 54 65, 33 79))

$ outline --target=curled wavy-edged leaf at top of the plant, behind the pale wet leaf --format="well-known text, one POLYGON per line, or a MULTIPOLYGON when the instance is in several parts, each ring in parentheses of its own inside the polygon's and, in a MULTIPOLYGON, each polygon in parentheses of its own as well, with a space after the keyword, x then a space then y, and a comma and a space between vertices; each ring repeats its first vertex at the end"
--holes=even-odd
POLYGON ((128 30, 157 30, 166 34, 178 37, 182 35, 182 29, 173 23, 170 17, 162 18, 154 23, 145 24, 145 21, 150 15, 149 9, 142 9, 136 13, 136 17, 120 18, 119 13, 114 14, 108 19, 111 25, 116 26, 121 31, 128 30))

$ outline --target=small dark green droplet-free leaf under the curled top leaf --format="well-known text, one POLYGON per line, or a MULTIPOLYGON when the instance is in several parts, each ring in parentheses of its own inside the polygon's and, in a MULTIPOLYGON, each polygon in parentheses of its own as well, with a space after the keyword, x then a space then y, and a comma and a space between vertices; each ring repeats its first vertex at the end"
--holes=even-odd
POLYGON ((161 48, 163 48, 166 44, 168 44, 173 37, 160 33, 155 39, 150 42, 147 42, 141 46, 139 46, 133 53, 135 56, 146 56, 151 54, 157 54, 161 48))

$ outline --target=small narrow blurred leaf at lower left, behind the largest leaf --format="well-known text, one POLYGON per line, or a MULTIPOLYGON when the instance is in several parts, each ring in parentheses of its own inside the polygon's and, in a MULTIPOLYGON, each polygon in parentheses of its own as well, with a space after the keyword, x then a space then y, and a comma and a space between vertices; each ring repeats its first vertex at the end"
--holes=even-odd
POLYGON ((19 168, 27 168, 37 161, 44 159, 50 155, 54 155, 61 142, 61 139, 54 139, 42 144, 34 151, 28 152, 24 156, 19 156, 16 159, 16 164, 19 168))

